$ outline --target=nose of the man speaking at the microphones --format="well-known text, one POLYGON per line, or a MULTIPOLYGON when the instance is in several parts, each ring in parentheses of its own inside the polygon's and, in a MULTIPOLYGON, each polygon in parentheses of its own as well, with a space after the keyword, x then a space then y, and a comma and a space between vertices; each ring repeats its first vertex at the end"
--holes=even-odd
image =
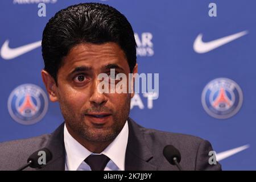
POLYGON ((106 97, 105 93, 101 93, 98 88, 100 82, 100 80, 93 81, 92 88, 90 90, 90 102, 93 105, 104 105, 108 101, 108 98, 106 97))

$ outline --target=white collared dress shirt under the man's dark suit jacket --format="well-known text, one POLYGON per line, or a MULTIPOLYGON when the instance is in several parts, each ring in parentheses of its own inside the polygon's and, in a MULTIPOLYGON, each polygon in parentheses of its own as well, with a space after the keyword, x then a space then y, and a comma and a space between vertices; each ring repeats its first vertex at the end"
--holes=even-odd
MULTIPOLYGON (((105 148, 101 154, 110 159, 104 171, 124 171, 125 153, 128 142, 129 127, 126 121, 125 126, 117 137, 105 148)), ((65 171, 90 171, 90 166, 84 160, 91 154, 75 138, 69 134, 66 125, 64 126, 64 144, 65 144, 65 171)), ((99 154, 95 154, 99 155, 99 154)))

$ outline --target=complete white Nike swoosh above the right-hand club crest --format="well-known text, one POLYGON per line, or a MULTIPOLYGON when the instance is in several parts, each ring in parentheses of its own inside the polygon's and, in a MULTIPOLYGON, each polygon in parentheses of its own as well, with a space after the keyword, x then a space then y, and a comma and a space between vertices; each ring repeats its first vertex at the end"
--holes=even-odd
POLYGON ((233 40, 236 40, 238 38, 241 38, 241 36, 244 36, 248 34, 248 31, 242 31, 238 32, 237 34, 225 36, 220 39, 212 40, 210 42, 203 42, 203 34, 199 34, 197 38, 195 39, 195 42, 193 44, 194 51, 197 53, 206 53, 209 51, 212 51, 213 49, 216 49, 220 46, 223 46, 224 44, 227 44, 229 42, 232 42, 233 40))

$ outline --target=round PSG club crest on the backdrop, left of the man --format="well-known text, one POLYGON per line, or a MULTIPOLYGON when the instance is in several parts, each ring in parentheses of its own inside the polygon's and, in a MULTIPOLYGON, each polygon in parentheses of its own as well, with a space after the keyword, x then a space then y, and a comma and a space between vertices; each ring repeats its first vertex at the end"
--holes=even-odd
POLYGON ((11 117, 23 125, 32 125, 44 117, 48 109, 46 93, 34 84, 19 85, 8 99, 11 117))

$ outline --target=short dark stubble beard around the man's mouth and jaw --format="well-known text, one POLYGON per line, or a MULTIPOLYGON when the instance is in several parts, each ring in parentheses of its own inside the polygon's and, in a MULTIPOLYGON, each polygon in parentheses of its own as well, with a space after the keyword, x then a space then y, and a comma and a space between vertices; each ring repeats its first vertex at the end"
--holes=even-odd
POLYGON ((68 108, 65 108, 65 111, 63 109, 61 110, 63 111, 63 117, 65 119, 65 122, 73 131, 73 133, 76 133, 77 135, 79 135, 79 137, 90 142, 108 142, 114 140, 115 137, 117 137, 117 135, 123 129, 123 126, 125 125, 126 119, 128 118, 130 112, 130 97, 127 96, 127 101, 125 105, 123 105, 122 110, 118 110, 118 113, 114 113, 113 110, 105 106, 92 107, 82 112, 78 121, 76 120, 76 117, 73 117, 73 114, 67 113, 68 110, 66 109, 68 108), (113 125, 109 127, 98 128, 96 126, 93 128, 88 126, 84 121, 86 119, 85 114, 89 112, 111 113, 113 125))

